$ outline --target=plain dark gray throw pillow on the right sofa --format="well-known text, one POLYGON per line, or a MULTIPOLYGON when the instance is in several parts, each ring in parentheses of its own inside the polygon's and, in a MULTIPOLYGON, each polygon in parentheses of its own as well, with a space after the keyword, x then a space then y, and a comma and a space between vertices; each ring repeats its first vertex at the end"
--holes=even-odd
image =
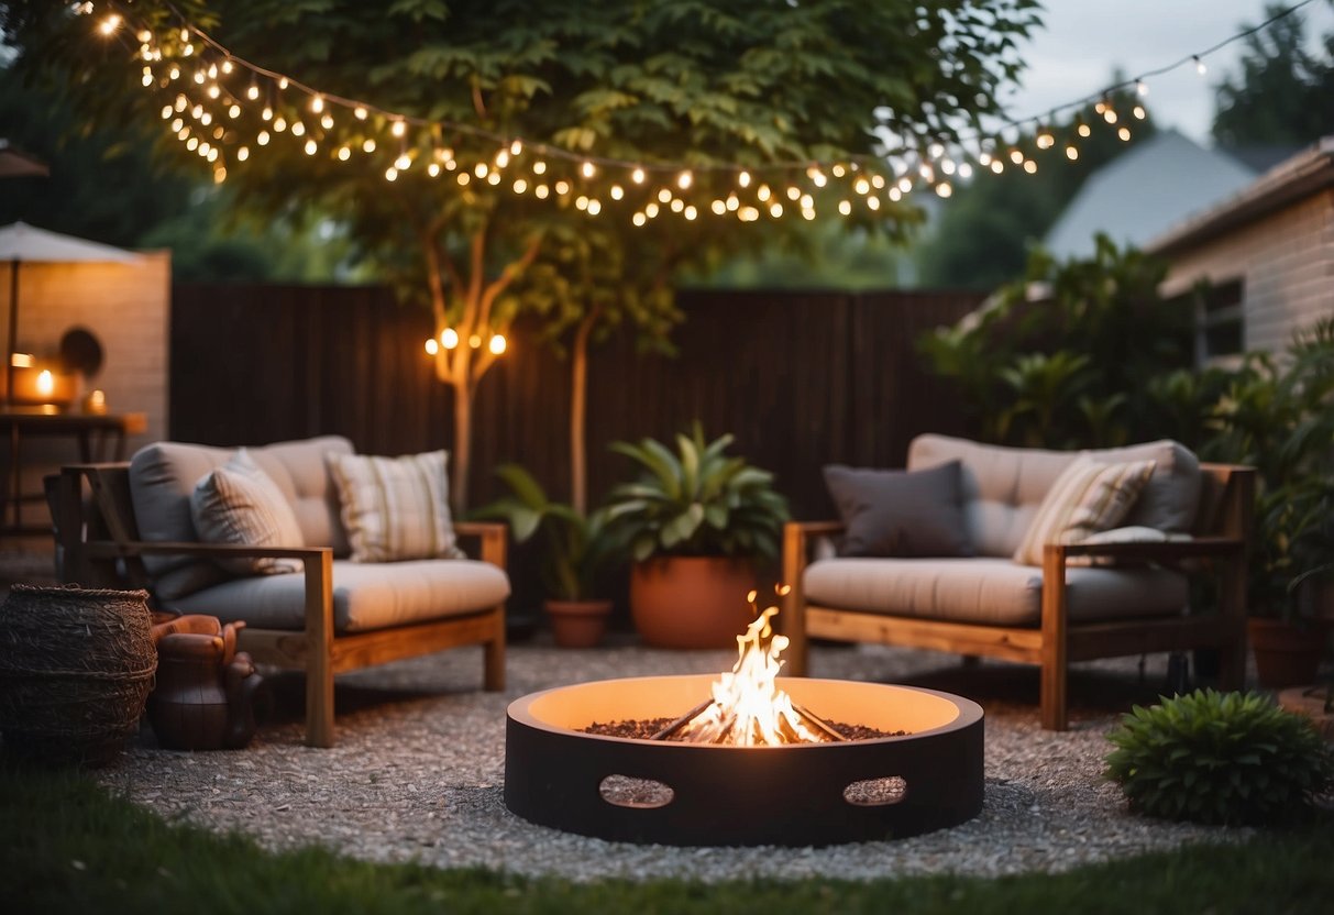
POLYGON ((963 523, 962 463, 922 471, 830 464, 828 487, 846 532, 840 556, 972 556, 963 523))

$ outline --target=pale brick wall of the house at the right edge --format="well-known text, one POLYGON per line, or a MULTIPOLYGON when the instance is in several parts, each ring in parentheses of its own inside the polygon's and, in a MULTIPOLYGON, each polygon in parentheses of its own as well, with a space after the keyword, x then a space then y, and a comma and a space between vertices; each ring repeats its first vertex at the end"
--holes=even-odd
POLYGON ((1295 331, 1334 315, 1334 188, 1170 260, 1165 296, 1201 277, 1241 279, 1245 347, 1281 351, 1295 331))

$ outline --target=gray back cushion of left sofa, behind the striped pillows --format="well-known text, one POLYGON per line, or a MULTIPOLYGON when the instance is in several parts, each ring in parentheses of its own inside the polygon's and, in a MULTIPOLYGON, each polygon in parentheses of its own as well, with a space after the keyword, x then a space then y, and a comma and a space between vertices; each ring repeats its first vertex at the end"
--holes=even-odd
MULTIPOLYGON (((305 544, 331 546, 336 556, 347 555, 347 535, 339 520, 338 495, 324 468, 324 455, 352 453, 352 443, 342 436, 321 436, 247 451, 291 503, 305 544)), ((129 494, 139 536, 144 540, 199 540, 189 515, 189 496, 200 478, 235 453, 235 448, 181 441, 157 441, 140 448, 129 460, 129 494)), ((164 599, 181 598, 227 578, 215 563, 191 556, 148 556, 144 567, 153 578, 155 591, 164 599)))

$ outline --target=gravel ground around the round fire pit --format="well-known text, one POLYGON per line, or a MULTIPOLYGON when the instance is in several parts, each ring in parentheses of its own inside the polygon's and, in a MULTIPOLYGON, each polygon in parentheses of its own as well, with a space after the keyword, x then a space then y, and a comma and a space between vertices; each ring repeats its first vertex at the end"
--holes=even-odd
MULTIPOLYGON (((950 690, 986 711, 986 803, 962 826, 896 842, 827 848, 672 848, 604 842, 534 826, 503 800, 504 711, 528 692, 594 679, 730 668, 732 652, 667 652, 624 644, 586 651, 512 646, 504 694, 476 690, 480 652, 460 650, 339 680, 338 746, 301 743, 300 682, 271 680, 275 716, 240 751, 173 752, 145 730, 97 778, 165 818, 239 830, 268 848, 323 843, 376 862, 482 866, 524 875, 850 878, 1061 871, 1191 842, 1239 840, 1223 830, 1141 819, 1102 780, 1106 734, 1130 702, 1150 702, 1165 667, 1082 664, 1073 727, 1038 727, 1037 668, 883 647, 815 648, 812 675, 950 690)), ((1159 662, 1162 659, 1158 659, 1159 662)))

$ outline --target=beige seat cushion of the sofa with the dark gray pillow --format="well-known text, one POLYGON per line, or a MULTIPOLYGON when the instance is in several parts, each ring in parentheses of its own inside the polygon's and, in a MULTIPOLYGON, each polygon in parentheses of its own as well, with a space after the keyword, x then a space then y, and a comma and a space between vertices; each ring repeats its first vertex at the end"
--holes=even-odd
MULTIPOLYGON (((819 607, 987 626, 1038 626, 1042 570, 1009 559, 822 559, 806 568, 819 607)), ((1066 570, 1073 622, 1178 614, 1186 578, 1162 568, 1066 570)))

